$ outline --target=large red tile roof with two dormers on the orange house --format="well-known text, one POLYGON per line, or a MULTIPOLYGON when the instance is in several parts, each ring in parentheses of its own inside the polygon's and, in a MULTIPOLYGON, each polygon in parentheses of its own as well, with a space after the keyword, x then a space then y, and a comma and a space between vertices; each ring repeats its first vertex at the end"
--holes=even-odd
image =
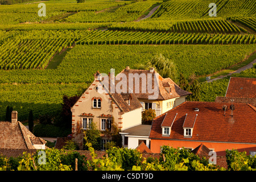
MULTIPOLYGON (((235 103, 233 117, 230 105, 224 115, 222 106, 226 103, 218 102, 184 102, 183 104, 159 115, 152 122, 150 138, 170 140, 197 140, 208 142, 238 142, 256 143, 256 109, 250 104, 235 103), (195 111, 198 108, 199 111, 195 111), (174 119, 174 115, 177 116, 174 119), (167 114, 167 115, 166 115, 167 114), (184 120, 186 114, 197 118, 191 138, 184 138, 184 120), (174 119, 174 122, 172 123, 174 119), (168 122, 163 122, 168 121, 168 122), (162 123, 171 126, 170 137, 162 136, 162 123)), ((189 122, 191 125, 191 122, 189 122)))

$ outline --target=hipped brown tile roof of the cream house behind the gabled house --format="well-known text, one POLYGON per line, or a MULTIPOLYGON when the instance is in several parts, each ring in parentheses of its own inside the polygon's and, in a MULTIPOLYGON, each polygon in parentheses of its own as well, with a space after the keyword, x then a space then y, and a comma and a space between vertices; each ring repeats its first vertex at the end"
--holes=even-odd
MULTIPOLYGON (((133 76, 137 75, 138 78, 141 77, 141 78, 139 78, 139 80, 140 80, 139 85, 135 85, 135 78, 133 78, 133 80, 134 80, 133 81, 133 88, 130 88, 131 90, 133 90, 133 93, 135 94, 135 96, 139 99, 148 99, 149 96, 154 95, 154 93, 148 92, 147 86, 154 89, 155 78, 158 78, 158 82, 157 82, 157 85, 156 85, 156 86, 158 86, 158 97, 155 98, 157 100, 168 100, 168 99, 171 99, 171 98, 187 96, 189 94, 192 94, 190 92, 187 92, 187 91, 181 89, 177 84, 175 84, 174 81, 171 80, 171 78, 163 78, 155 70, 150 72, 150 70, 140 70, 140 69, 126 68, 126 69, 123 69, 123 71, 121 71, 117 75, 117 77, 121 76, 121 73, 126 75, 127 85, 129 85, 129 79, 130 79, 129 74, 133 75, 133 76), (158 76, 158 77, 156 77, 156 76, 158 76), (150 78, 151 81, 150 80, 148 81, 148 78, 150 78), (150 83, 151 85, 147 85, 148 84, 147 82, 150 83), (168 86, 172 87, 172 93, 171 94, 167 92, 166 88, 164 88, 164 87, 168 87, 168 86), (136 89, 138 89, 138 91, 136 89)), ((130 80, 130 82, 131 82, 131 80, 130 80)), ((128 89, 129 88, 127 86, 127 90, 128 89)))

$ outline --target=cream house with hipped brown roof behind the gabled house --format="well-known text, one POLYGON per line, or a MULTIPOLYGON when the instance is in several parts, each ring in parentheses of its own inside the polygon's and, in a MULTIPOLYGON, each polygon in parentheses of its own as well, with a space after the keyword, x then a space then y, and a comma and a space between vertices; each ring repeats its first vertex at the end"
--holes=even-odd
POLYGON ((154 109, 156 116, 185 102, 186 97, 192 94, 181 89, 171 78, 160 76, 154 68, 139 70, 126 67, 117 77, 126 77, 126 85, 141 102, 143 110, 154 109))

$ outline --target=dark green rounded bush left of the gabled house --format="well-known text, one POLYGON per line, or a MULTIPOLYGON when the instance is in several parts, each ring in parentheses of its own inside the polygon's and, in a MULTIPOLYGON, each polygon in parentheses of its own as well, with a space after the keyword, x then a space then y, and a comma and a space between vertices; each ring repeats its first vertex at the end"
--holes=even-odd
POLYGON ((71 129, 65 129, 64 127, 42 124, 34 126, 36 137, 67 137, 69 134, 71 134, 71 129))

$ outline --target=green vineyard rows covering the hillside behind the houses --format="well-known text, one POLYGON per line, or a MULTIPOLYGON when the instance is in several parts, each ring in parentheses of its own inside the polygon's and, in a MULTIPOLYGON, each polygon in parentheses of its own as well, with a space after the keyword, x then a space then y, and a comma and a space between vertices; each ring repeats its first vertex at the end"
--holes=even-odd
MULTIPOLYGON (((256 51, 255 1, 218 0, 216 17, 208 15, 210 0, 44 3, 46 17, 34 1, 0 6, 0 120, 7 106, 20 121, 30 109, 35 118, 56 115, 62 96, 80 94, 97 70, 136 69, 160 53, 188 78, 229 68, 256 51), (60 59, 54 69, 53 59, 60 59)), ((204 84, 203 100, 222 94, 225 84, 220 93, 204 84)))

